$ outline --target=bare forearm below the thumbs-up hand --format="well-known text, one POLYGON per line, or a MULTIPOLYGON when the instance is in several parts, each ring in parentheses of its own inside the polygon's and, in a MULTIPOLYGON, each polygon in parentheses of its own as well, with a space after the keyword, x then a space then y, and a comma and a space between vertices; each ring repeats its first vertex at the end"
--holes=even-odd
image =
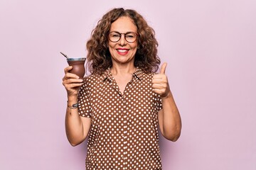
POLYGON ((171 91, 166 98, 162 98, 162 131, 168 140, 176 141, 181 135, 181 116, 171 91))

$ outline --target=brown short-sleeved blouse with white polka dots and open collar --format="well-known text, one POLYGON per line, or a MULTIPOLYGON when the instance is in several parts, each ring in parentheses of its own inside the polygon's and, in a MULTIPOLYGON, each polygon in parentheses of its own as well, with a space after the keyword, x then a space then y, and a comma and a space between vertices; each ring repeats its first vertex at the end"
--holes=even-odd
POLYGON ((85 77, 78 96, 79 114, 91 118, 86 169, 161 169, 158 112, 161 98, 154 73, 136 69, 124 94, 110 69, 85 77))

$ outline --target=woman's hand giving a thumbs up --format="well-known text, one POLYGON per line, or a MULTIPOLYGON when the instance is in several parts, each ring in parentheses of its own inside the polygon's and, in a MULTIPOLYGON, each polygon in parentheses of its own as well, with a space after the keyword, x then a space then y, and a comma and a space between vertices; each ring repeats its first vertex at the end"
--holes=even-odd
POLYGON ((152 87, 154 89, 154 92, 156 94, 159 94, 161 98, 166 98, 167 96, 169 96, 169 94, 171 94, 168 79, 165 74, 166 66, 167 63, 164 62, 164 64, 162 64, 161 66, 160 73, 155 74, 152 79, 152 87))

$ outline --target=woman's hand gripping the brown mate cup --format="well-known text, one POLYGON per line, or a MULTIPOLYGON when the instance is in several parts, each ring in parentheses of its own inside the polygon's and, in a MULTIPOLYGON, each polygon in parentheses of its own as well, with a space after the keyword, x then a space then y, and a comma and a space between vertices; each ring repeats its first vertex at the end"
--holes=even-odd
POLYGON ((63 77, 63 86, 65 86, 68 97, 78 96, 79 87, 82 86, 82 79, 79 79, 76 74, 70 73, 71 69, 72 66, 65 67, 65 76, 63 77))

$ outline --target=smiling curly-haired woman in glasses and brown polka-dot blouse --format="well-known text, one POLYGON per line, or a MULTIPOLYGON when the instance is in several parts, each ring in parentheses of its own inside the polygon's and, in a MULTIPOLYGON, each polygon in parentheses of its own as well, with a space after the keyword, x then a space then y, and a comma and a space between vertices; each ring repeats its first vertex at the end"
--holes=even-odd
POLYGON ((65 68, 65 128, 75 146, 87 135, 86 169, 161 169, 159 135, 181 134, 181 118, 161 67, 154 30, 134 10, 114 8, 87 42, 82 81, 65 68), (78 90, 80 89, 80 90, 78 90))

